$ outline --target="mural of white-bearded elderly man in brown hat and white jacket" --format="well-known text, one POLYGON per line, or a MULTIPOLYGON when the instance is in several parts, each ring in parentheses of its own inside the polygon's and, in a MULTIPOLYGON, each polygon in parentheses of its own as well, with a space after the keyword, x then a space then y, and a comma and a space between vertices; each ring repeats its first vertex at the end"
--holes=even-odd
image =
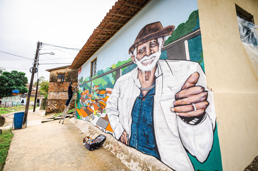
POLYGON ((215 110, 201 66, 159 60, 174 26, 147 24, 129 48, 137 64, 115 83, 107 115, 115 137, 175 170, 194 170, 189 152, 204 162, 213 145, 215 110))

